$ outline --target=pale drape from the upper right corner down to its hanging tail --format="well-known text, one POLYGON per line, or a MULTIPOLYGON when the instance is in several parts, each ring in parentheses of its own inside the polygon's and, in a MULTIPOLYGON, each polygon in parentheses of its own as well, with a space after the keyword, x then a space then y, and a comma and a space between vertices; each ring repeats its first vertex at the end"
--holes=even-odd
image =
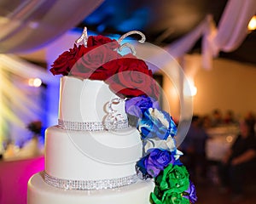
POLYGON ((203 67, 212 68, 212 58, 220 51, 232 52, 247 37, 247 25, 256 14, 255 0, 229 0, 217 28, 209 26, 203 40, 203 67))

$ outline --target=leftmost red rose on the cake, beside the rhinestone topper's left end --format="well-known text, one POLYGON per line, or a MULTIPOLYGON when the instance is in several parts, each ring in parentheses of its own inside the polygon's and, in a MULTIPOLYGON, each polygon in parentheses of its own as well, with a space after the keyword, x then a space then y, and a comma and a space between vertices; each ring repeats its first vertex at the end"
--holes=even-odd
POLYGON ((79 50, 82 49, 84 46, 79 45, 77 47, 76 44, 74 44, 73 48, 70 48, 69 51, 65 51, 62 53, 51 65, 51 71, 53 75, 68 75, 69 71, 71 71, 73 65, 76 63, 78 60, 76 58, 77 53, 79 53, 79 50))

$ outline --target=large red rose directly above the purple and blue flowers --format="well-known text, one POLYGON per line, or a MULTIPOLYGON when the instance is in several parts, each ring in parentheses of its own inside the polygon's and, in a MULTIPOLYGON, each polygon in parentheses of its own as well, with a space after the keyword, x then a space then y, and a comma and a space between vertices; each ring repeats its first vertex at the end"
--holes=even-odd
POLYGON ((119 70, 106 81, 109 88, 121 97, 148 95, 158 98, 159 87, 142 59, 122 58, 117 61, 119 70))

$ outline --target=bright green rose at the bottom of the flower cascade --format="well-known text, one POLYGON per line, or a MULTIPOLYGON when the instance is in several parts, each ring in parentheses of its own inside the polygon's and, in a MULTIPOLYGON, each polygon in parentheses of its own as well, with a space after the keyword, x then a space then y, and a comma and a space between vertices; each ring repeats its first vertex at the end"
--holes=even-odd
POLYGON ((156 178, 151 200, 155 204, 189 204, 183 192, 189 188, 189 173, 184 166, 169 164, 156 178))

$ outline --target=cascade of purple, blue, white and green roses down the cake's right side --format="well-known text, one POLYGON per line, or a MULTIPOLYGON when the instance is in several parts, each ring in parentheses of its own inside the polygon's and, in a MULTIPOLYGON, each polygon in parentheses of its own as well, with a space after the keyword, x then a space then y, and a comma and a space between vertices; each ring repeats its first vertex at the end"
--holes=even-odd
POLYGON ((137 129, 141 133, 144 156, 137 161, 137 170, 143 179, 154 178, 152 203, 195 203, 195 185, 179 161, 182 152, 176 148, 177 127, 172 116, 160 110, 154 99, 144 95, 128 99, 125 111, 138 118, 137 129))

